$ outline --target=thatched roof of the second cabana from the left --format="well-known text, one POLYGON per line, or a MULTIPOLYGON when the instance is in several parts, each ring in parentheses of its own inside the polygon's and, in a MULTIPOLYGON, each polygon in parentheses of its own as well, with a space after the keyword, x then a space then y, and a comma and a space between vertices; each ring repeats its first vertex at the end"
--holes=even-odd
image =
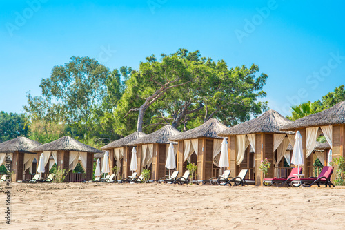
POLYGON ((40 145, 39 147, 35 147, 33 149, 30 149, 30 151, 84 151, 84 152, 90 152, 90 153, 99 153, 101 152, 98 149, 95 149, 94 147, 91 147, 89 145, 85 145, 81 143, 78 140, 75 140, 71 138, 70 136, 63 136, 59 140, 54 140, 50 143, 46 143, 43 145, 40 145))

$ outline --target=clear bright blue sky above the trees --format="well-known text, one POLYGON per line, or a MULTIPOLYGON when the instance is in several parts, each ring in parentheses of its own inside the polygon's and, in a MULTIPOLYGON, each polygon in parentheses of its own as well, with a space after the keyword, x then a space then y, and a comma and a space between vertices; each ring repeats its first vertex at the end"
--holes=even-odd
POLYGON ((345 1, 0 1, 0 111, 71 56, 110 70, 146 56, 200 50, 230 67, 259 65, 271 109, 315 101, 344 84, 345 1))

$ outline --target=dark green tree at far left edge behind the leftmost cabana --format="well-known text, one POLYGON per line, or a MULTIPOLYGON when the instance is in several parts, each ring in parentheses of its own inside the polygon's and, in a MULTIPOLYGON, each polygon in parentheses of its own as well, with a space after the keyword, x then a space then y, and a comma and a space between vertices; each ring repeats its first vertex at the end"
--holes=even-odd
POLYGON ((24 114, 0 112, 0 143, 19 136, 28 136, 28 132, 24 114))

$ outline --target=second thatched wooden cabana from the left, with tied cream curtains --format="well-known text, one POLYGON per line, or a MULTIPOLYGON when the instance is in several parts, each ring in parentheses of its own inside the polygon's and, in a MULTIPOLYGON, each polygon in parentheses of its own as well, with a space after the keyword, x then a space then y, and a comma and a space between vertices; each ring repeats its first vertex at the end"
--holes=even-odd
POLYGON ((39 145, 39 147, 30 149, 30 151, 37 153, 38 160, 41 153, 43 153, 45 159, 44 165, 46 167, 46 175, 44 176, 47 176, 47 171, 49 171, 48 162, 52 155, 57 167, 60 169, 66 169, 66 172, 68 171, 68 176, 66 176, 65 179, 66 181, 92 180, 93 155, 101 152, 100 150, 83 144, 70 136, 63 136, 59 140, 39 145), (79 163, 79 159, 81 161, 81 167, 83 167, 85 171, 85 175, 72 174, 72 170, 75 169, 79 163))

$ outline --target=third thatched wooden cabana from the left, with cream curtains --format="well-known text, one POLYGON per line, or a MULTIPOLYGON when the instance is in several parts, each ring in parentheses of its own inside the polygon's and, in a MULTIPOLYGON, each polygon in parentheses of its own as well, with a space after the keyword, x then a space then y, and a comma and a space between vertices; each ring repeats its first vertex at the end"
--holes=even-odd
POLYGON ((130 176, 130 159, 132 158, 133 146, 127 146, 127 144, 143 136, 146 136, 146 134, 135 132, 101 147, 102 150, 109 151, 110 173, 113 173, 112 168, 115 165, 120 168, 118 179, 120 179, 120 176, 122 178, 128 178, 130 176))

